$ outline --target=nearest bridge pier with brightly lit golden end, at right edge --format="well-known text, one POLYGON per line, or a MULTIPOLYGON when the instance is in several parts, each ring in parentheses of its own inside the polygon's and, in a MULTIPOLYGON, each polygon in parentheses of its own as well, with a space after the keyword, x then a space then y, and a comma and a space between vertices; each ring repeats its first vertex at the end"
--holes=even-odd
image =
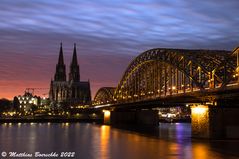
POLYGON ((239 138, 239 109, 198 105, 191 107, 192 137, 239 138))

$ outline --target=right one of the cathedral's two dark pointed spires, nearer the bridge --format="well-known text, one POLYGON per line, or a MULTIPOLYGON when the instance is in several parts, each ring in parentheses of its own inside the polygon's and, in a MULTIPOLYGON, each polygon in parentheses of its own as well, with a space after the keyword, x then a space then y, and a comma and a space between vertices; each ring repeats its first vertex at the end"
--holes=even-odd
POLYGON ((80 81, 80 72, 79 65, 77 62, 77 53, 76 53, 76 44, 74 44, 73 56, 70 65, 69 81, 79 82, 80 81))

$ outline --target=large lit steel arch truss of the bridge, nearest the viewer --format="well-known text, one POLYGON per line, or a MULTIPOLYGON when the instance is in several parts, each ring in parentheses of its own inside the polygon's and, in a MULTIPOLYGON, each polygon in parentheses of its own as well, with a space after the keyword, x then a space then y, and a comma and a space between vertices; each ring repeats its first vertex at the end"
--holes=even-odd
POLYGON ((113 99, 127 103, 224 88, 236 80, 236 67, 230 51, 151 49, 130 63, 113 99))

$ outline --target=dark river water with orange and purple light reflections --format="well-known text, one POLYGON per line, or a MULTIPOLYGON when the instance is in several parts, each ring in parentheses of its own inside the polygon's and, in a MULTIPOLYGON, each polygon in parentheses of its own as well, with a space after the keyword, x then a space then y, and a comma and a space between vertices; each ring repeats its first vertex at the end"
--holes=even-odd
POLYGON ((0 156, 13 158, 9 155, 15 152, 34 157, 38 152, 45 156, 55 153, 59 155, 55 158, 60 158, 64 152, 80 159, 239 158, 238 140, 190 136, 189 123, 161 123, 158 128, 139 131, 89 123, 5 123, 0 125, 0 156))

